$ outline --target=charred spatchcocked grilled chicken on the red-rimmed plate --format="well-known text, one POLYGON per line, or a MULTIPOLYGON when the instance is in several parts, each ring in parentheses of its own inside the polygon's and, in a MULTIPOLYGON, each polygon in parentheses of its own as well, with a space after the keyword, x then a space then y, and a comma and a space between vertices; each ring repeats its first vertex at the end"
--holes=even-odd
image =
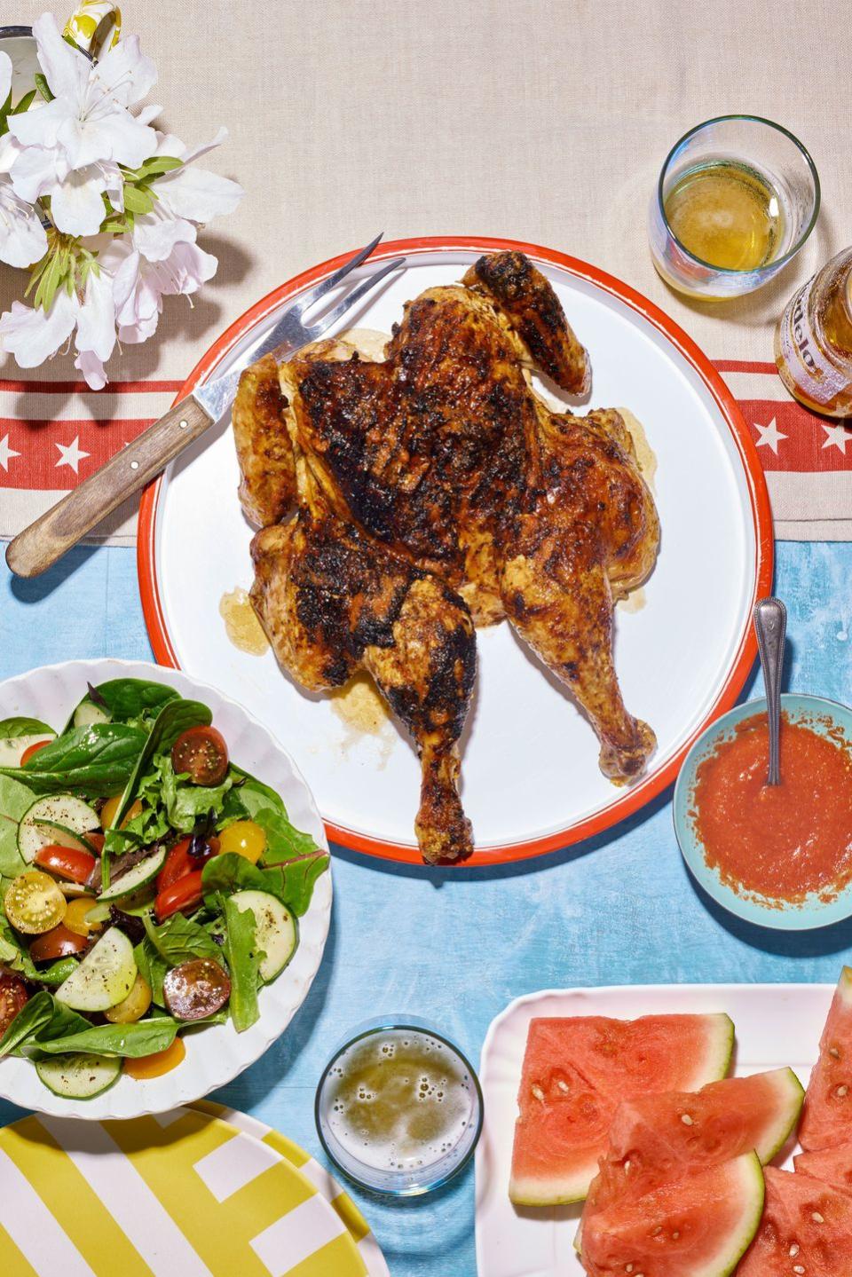
POLYGON ((533 369, 588 391, 549 282, 524 254, 493 253, 409 301, 383 360, 355 337, 319 341, 262 359, 236 397, 257 614, 305 690, 373 677, 416 744, 432 863, 473 850, 459 737, 475 626, 508 619, 588 715, 613 782, 655 744, 613 665, 614 601, 657 557, 654 501, 618 412, 552 411, 533 369))

